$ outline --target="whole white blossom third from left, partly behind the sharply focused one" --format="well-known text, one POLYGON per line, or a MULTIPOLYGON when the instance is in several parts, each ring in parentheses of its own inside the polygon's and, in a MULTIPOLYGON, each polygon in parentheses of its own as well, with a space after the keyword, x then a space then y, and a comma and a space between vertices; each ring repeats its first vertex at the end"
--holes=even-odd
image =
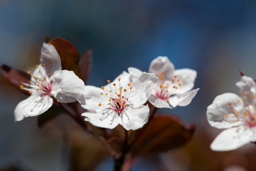
MULTIPOLYGON (((140 76, 142 71, 137 68, 128 68, 131 79, 140 76)), ((188 68, 175 70, 173 63, 166 56, 154 59, 149 67, 149 73, 159 78, 157 87, 153 89, 149 102, 157 108, 171 108, 190 104, 197 89, 193 89, 197 72, 188 68)))

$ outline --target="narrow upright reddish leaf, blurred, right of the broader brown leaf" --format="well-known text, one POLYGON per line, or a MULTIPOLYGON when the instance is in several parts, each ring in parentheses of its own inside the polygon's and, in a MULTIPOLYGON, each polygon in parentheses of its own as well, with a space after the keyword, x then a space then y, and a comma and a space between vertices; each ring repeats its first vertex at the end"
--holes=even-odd
POLYGON ((91 71, 91 61, 92 61, 92 49, 87 48, 86 51, 84 51, 82 58, 80 60, 80 71, 81 71, 84 83, 86 83, 88 75, 90 74, 90 71, 91 71))

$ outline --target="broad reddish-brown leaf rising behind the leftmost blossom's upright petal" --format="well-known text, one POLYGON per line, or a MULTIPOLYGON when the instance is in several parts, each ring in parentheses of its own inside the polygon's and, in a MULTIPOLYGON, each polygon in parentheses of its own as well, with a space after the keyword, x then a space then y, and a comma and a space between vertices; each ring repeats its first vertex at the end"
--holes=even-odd
POLYGON ((62 38, 55 38, 50 40, 48 43, 52 44, 62 61, 62 69, 68 71, 74 71, 79 78, 81 78, 81 74, 79 71, 78 63, 79 63, 79 52, 70 41, 62 38))

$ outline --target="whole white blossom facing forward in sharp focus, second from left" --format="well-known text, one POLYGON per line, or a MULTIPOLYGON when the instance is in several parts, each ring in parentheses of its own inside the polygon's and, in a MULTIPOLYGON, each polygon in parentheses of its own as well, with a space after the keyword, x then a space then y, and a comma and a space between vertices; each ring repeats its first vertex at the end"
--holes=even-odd
POLYGON ((122 125, 125 129, 139 129, 148 121, 149 107, 144 105, 157 85, 154 74, 143 72, 138 79, 129 81, 130 74, 123 72, 112 83, 97 88, 85 86, 87 96, 86 105, 83 108, 90 112, 86 121, 102 128, 115 128, 122 125))

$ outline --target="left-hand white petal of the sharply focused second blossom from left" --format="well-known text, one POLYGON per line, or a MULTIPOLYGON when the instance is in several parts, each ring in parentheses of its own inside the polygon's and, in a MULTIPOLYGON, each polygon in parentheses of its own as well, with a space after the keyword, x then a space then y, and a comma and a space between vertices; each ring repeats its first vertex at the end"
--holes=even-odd
POLYGON ((84 86, 84 89, 88 98, 86 99, 86 104, 82 105, 82 107, 90 111, 103 111, 103 106, 99 106, 99 103, 108 104, 104 94, 100 95, 103 90, 95 86, 84 86))

